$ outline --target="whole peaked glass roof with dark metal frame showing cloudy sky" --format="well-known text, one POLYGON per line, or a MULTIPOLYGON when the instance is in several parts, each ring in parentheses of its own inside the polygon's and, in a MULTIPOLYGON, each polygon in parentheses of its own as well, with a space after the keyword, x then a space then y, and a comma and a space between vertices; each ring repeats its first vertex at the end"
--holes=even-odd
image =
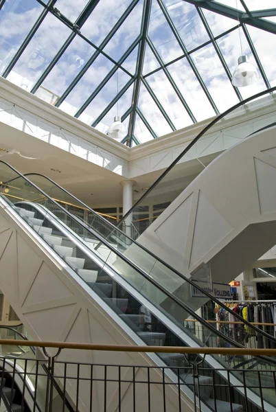
POLYGON ((120 115, 135 146, 276 85, 272 3, 0 0, 0 75, 103 133, 120 115), (237 89, 241 54, 259 80, 237 89))

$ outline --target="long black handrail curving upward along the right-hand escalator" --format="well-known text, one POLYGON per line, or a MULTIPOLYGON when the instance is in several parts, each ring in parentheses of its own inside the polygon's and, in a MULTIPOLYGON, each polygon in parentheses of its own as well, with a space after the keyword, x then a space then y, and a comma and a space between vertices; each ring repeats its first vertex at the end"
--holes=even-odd
MULTIPOLYGON (((155 186, 158 185, 158 183, 163 179, 163 177, 165 177, 168 172, 170 172, 170 170, 172 170, 172 168, 174 168, 174 166, 179 163, 180 159, 186 155, 186 153, 196 144, 196 142, 200 139, 200 137, 202 137, 203 135, 205 135, 205 133, 212 127, 214 126, 214 124, 216 124, 217 122, 219 122, 223 117, 225 117, 226 115, 229 115, 229 113, 231 113, 232 111, 235 111, 236 108, 239 108, 241 106, 243 106, 246 103, 251 102, 251 100, 255 100, 257 98, 261 98, 263 95, 266 95, 268 93, 272 93, 273 91, 276 91, 276 86, 271 87, 270 89, 266 89, 264 91, 261 91, 260 93, 257 93, 247 99, 242 100, 242 102, 238 102, 237 104, 235 104, 234 106, 231 106, 230 108, 228 108, 225 112, 220 113, 220 115, 216 116, 215 119, 213 119, 207 126, 205 126, 205 128, 203 128, 203 130, 201 130, 200 133, 198 133, 198 135, 185 147, 185 149, 183 150, 183 152, 181 152, 181 154, 176 157, 176 159, 174 159, 174 161, 170 164, 170 166, 168 166, 168 168, 159 176, 159 178, 154 181, 154 183, 152 183, 152 185, 148 188, 148 190, 146 190, 145 193, 143 193, 143 195, 138 199, 137 202, 135 202, 135 204, 126 212, 126 214, 124 214, 124 216, 122 216, 122 218, 119 220, 119 222, 117 222, 117 225, 121 225, 122 222, 124 222, 124 220, 133 212, 133 210, 135 209, 135 207, 137 207, 137 205, 139 205, 139 203, 141 203, 141 201, 143 201, 144 198, 146 198, 148 196, 148 194, 154 189, 155 186)), ((255 133, 255 132, 254 132, 255 133)))

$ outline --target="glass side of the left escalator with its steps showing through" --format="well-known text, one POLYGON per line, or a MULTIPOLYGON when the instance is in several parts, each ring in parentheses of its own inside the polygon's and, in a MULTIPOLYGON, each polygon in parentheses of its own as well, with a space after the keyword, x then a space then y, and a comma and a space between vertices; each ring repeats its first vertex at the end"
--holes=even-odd
MULTIPOLYGON (((5 168, 8 169, 8 165, 0 164, 2 176, 7 176, 5 168)), ((205 346, 214 343, 214 339, 218 338, 215 329, 206 328, 205 325, 201 325, 200 329, 187 328, 185 305, 178 304, 173 295, 167 291, 164 293, 154 282, 150 282, 151 279, 162 279, 163 274, 157 262, 146 262, 148 277, 145 277, 141 271, 128 265, 116 250, 108 249, 107 244, 104 248, 101 245, 97 250, 90 249, 87 239, 91 238, 91 231, 58 207, 51 198, 47 198, 51 203, 50 208, 41 205, 45 195, 30 186, 30 183, 25 183, 25 179, 18 176, 9 185, 8 192, 2 185, 1 197, 5 199, 7 207, 16 211, 146 345, 205 346), (20 198, 25 200, 20 201, 20 198)), ((49 196, 50 193, 49 187, 49 196)), ((181 297, 183 290, 177 288, 174 295, 181 297)), ((191 315, 193 312, 188 310, 188 313, 191 315)), ((223 335, 220 335, 220 344, 231 346, 223 335)), ((173 369, 175 356, 160 357, 173 369)), ((227 359, 222 356, 213 359, 224 368, 228 365, 227 359)), ((179 362, 185 363, 185 356, 179 354, 179 362)), ((181 377, 183 382, 187 384, 191 374, 181 377)))

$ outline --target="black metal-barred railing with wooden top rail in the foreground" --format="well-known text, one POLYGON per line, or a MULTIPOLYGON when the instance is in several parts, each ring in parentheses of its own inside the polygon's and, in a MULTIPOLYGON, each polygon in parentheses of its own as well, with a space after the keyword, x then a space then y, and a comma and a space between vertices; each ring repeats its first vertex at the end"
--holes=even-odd
MULTIPOLYGON (((1 339, 1 347, 18 341, 1 339)), ((44 359, 0 356, 0 401, 7 411, 275 411, 276 371, 262 369, 254 356, 276 356, 276 350, 222 347, 160 347, 131 345, 91 345, 23 341, 21 345, 41 347, 44 359), (53 352, 50 348, 55 348, 53 352), (62 360, 62 350, 159 353, 170 355, 173 372, 165 365, 154 365, 148 358, 143 365, 116 363, 76 363, 62 360), (200 354, 198 354, 200 350, 200 354), (249 356, 256 363, 240 369, 211 369, 205 356, 249 356), (39 366, 47 368, 41 372, 39 366), (219 373, 218 373, 219 372, 219 373), (41 382, 45 387, 41 395, 41 382), (38 382, 40 384, 38 385, 38 382), (60 393, 54 382, 59 382, 60 393), (85 402, 84 402, 85 400, 85 402), (85 403, 85 407, 84 407, 85 403), (41 406, 43 405, 43 406, 41 406)))

